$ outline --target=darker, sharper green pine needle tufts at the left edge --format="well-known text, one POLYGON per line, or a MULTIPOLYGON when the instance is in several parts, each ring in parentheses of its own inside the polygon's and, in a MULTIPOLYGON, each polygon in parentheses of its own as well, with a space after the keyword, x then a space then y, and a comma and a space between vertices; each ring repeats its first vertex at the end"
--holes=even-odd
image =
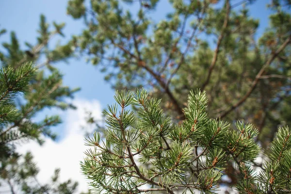
MULTIPOLYGON (((3 129, 19 117, 18 110, 12 104, 13 97, 23 92, 31 81, 35 68, 31 63, 21 65, 17 69, 11 66, 0 68, 0 125, 3 129)), ((0 158, 4 159, 11 152, 9 143, 28 134, 21 130, 11 130, 10 127, 0 133, 0 158)))

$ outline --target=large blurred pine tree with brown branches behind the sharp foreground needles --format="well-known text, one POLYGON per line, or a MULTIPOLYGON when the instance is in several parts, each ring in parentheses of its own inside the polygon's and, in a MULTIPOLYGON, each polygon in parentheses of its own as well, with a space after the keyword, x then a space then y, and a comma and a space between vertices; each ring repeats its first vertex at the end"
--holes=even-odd
POLYGON ((173 122, 185 118, 187 95, 200 88, 211 118, 253 123, 266 147, 278 126, 291 124, 291 1, 266 1, 272 14, 262 34, 249 14, 253 2, 69 0, 67 13, 86 24, 71 42, 113 88, 145 87, 162 98, 173 122), (172 8, 157 21, 159 3, 172 8))

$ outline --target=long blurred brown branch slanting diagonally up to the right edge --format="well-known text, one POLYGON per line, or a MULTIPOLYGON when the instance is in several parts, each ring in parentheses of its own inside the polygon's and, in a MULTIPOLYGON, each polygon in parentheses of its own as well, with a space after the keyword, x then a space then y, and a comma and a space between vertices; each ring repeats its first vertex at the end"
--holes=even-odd
POLYGON ((265 69, 275 60, 275 58, 278 56, 278 54, 285 49, 285 47, 291 42, 291 35, 285 40, 285 42, 273 53, 271 58, 262 66, 262 68, 259 70, 259 73, 257 74, 255 80, 253 81, 251 88, 249 91, 234 105, 232 105, 228 110, 226 110, 224 113, 222 113, 219 117, 223 118, 225 117, 228 113, 233 111, 235 108, 239 107, 242 105, 242 103, 252 94, 252 92, 255 90, 259 79, 261 75, 264 73, 265 69))

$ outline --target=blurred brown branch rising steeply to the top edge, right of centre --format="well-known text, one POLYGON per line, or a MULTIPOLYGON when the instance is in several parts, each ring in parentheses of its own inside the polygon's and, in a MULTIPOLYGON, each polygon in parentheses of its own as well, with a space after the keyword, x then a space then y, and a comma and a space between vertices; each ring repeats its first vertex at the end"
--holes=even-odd
POLYGON ((210 64, 210 67, 209 67, 209 70, 208 70, 208 75, 207 75, 206 81, 202 84, 201 91, 203 91, 205 89, 205 87, 207 86, 207 84, 210 81, 210 76, 211 76, 213 68, 214 68, 214 66, 216 64, 216 61, 217 61, 217 58, 218 58, 219 49, 220 49, 220 45, 221 45, 222 39, 224 38, 224 35, 225 35, 225 32, 226 32, 226 28, 227 28, 227 25, 228 25, 230 9, 231 8, 230 8, 229 0, 226 0, 226 16, 225 16, 225 19, 224 19, 224 22, 223 22, 221 34, 218 37, 216 49, 214 51, 214 56, 212 58, 212 61, 211 61, 211 64, 210 64))

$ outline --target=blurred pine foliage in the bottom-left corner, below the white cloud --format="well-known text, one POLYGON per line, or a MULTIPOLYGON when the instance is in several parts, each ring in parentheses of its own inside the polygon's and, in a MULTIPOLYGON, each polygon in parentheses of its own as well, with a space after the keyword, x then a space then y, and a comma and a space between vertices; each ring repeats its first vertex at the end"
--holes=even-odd
POLYGON ((72 194, 76 191, 78 182, 70 179, 59 181, 60 169, 55 170, 51 182, 42 185, 36 177, 39 169, 32 159, 32 154, 28 152, 24 156, 14 154, 2 162, 1 178, 7 181, 12 194, 72 194))

